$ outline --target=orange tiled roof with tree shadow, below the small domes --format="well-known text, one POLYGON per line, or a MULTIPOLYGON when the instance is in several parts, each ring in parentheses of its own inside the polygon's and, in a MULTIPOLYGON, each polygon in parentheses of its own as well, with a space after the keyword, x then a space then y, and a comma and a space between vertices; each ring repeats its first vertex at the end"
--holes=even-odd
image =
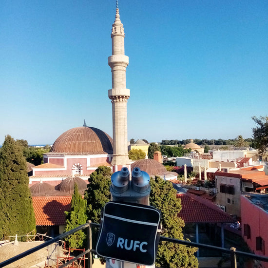
POLYGON ((64 211, 70 211, 72 196, 33 196, 37 226, 65 225, 64 211))

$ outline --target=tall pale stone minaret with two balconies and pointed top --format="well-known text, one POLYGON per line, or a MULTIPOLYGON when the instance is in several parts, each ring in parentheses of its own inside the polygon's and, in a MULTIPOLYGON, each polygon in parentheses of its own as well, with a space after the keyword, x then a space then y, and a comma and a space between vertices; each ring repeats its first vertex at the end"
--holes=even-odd
POLYGON ((127 128, 127 102, 130 90, 126 88, 126 67, 129 64, 129 57, 125 56, 125 33, 119 16, 118 1, 116 1, 111 38, 112 56, 108 57, 108 64, 112 71, 112 89, 108 90, 108 96, 112 100, 113 107, 114 154, 111 164, 116 172, 122 167, 130 168, 127 128))

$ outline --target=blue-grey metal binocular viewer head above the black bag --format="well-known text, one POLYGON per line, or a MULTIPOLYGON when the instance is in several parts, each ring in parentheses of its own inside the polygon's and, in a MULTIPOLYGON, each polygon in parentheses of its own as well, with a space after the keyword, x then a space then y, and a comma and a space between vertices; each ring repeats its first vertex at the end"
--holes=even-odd
POLYGON ((134 168, 130 180, 130 172, 124 167, 121 171, 115 172, 111 180, 112 201, 149 205, 151 187, 148 173, 134 168))

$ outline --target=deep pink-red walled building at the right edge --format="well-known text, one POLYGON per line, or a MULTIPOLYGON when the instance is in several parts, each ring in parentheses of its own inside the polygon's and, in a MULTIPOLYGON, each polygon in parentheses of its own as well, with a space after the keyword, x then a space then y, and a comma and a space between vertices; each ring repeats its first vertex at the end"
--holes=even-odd
MULTIPOLYGON (((257 255, 268 257, 268 194, 241 195, 242 236, 257 255)), ((255 267, 268 268, 262 262, 255 267)))

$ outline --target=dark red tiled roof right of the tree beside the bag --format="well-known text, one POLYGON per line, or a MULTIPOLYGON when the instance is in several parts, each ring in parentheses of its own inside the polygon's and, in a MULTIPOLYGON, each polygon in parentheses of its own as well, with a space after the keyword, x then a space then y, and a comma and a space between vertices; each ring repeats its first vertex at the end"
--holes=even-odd
POLYGON ((181 198, 182 209, 179 212, 185 223, 221 223, 233 222, 233 218, 214 203, 192 194, 177 194, 181 198))

